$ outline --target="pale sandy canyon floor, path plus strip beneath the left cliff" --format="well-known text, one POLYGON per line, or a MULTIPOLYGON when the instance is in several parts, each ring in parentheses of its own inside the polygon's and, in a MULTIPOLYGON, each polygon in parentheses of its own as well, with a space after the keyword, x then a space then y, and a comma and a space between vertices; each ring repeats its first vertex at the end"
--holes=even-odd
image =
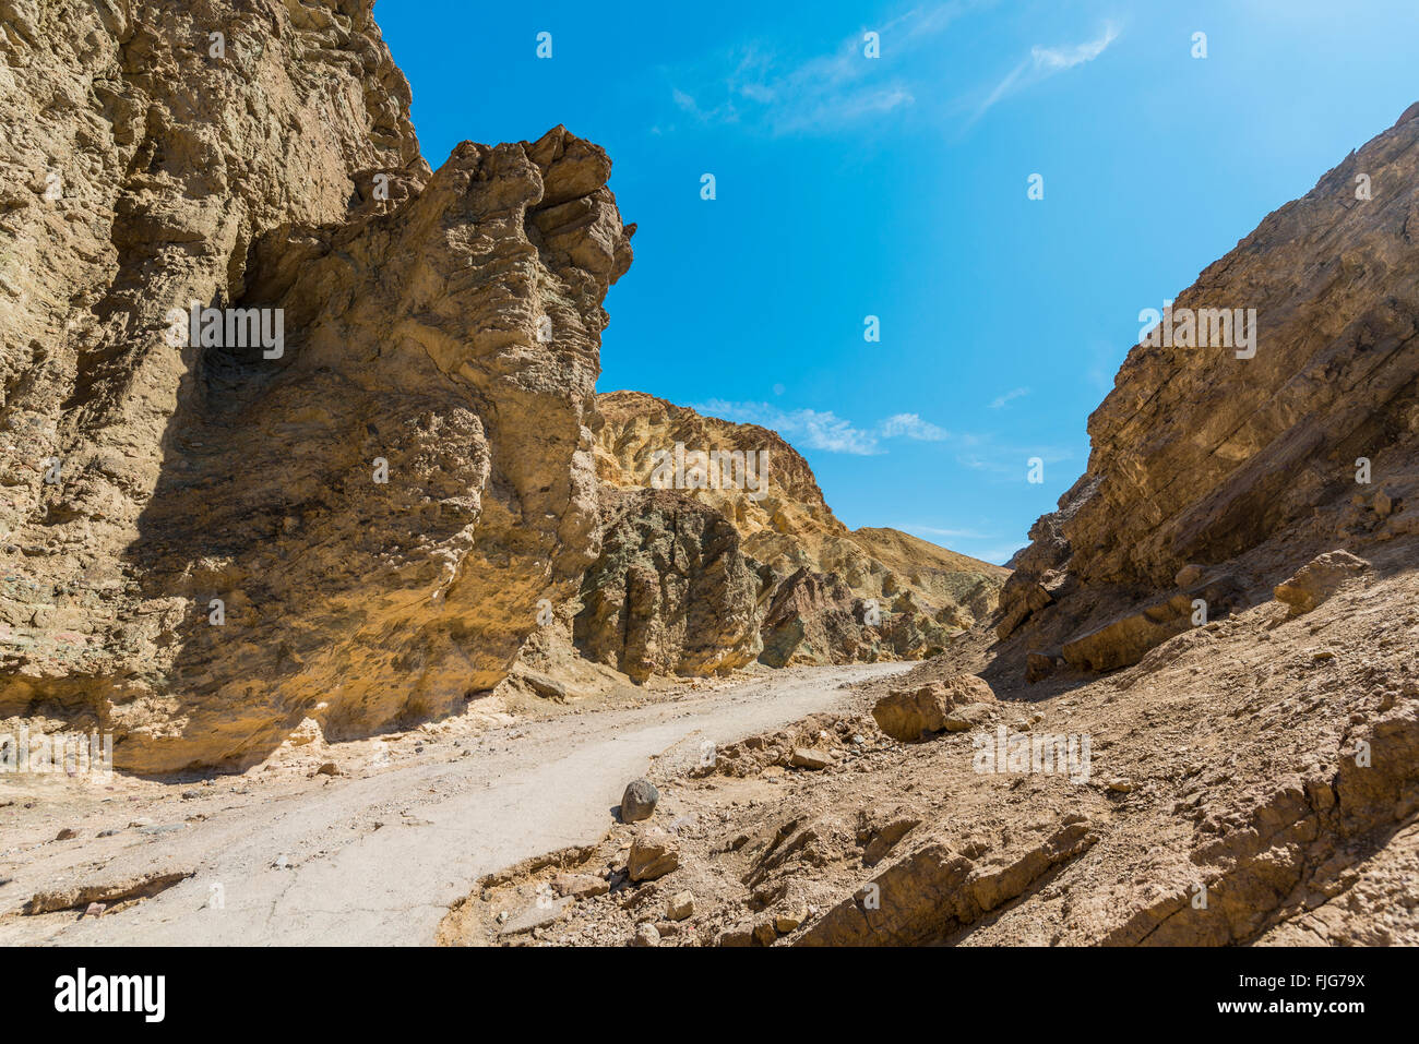
POLYGON ((431 943, 481 875, 604 837, 651 763, 670 776, 705 740, 834 711, 850 699, 839 687, 911 667, 795 668, 639 706, 316 738, 240 776, 0 777, 0 943, 431 943), (339 774, 318 774, 326 762, 339 774), (64 830, 75 837, 55 840, 64 830), (104 916, 24 912, 43 891, 152 872, 190 877, 104 916))

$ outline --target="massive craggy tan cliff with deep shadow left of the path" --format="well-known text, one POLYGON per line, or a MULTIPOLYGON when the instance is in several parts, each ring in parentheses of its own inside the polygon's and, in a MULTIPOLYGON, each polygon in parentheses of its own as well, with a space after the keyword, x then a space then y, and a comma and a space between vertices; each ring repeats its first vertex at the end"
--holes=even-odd
POLYGON ((430 173, 365 0, 10 7, 0 716, 162 772, 491 688, 597 552, 604 152, 430 173))

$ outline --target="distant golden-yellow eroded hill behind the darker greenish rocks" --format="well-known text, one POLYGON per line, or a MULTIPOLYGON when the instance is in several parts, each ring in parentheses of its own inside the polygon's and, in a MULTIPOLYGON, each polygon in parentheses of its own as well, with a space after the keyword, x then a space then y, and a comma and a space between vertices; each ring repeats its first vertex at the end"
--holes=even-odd
MULTIPOLYGON (((668 481, 683 501, 722 516, 742 553, 766 567, 755 617, 761 662, 920 658, 995 611, 1007 570, 895 529, 849 531, 807 461, 776 433, 639 392, 600 394, 597 406, 603 485, 631 491, 668 481), (742 484, 738 472, 721 481, 714 467, 697 477, 697 452, 739 454, 762 467, 742 484), (660 461, 667 470, 657 478, 660 461)), ((748 617, 744 609, 728 614, 748 617)))

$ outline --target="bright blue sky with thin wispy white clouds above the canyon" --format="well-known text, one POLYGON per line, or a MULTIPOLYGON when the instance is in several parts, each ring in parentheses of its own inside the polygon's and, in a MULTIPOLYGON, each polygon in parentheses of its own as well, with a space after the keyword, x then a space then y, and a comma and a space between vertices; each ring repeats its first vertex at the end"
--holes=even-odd
POLYGON ((776 428, 849 526, 992 562, 1084 470, 1138 312, 1419 101, 1413 0, 379 0, 376 18, 431 166, 556 123, 610 153, 639 231, 600 390, 776 428))

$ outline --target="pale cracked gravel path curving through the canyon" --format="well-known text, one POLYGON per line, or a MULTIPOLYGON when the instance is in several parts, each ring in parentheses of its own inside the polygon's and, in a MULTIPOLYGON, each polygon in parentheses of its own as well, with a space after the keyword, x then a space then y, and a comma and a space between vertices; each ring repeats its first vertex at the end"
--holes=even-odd
MULTIPOLYGON (((490 871, 597 840, 626 782, 846 702, 843 684, 914 664, 780 671, 704 695, 566 715, 482 733, 480 750, 443 748, 363 777, 315 777, 268 799, 193 810, 173 786, 156 826, 88 835, 4 861, 0 942, 53 945, 429 945, 448 904, 490 871), (163 810, 170 810, 163 817, 163 810), (287 865, 281 865, 285 862, 287 865), (167 891, 104 918, 18 916, 41 888, 192 870, 167 891), (221 906, 209 904, 220 885, 221 906)), ((260 783, 253 780, 253 787, 260 783)), ((153 813, 149 813, 150 816, 153 813)))

